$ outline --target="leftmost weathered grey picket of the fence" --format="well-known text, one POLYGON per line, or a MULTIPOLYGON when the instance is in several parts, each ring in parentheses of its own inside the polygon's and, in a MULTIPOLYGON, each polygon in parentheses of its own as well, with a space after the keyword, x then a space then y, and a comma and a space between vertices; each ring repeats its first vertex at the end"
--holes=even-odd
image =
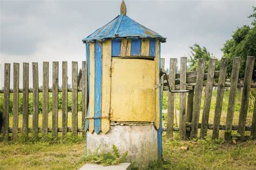
POLYGON ((9 137, 10 63, 4 63, 3 137, 9 137))

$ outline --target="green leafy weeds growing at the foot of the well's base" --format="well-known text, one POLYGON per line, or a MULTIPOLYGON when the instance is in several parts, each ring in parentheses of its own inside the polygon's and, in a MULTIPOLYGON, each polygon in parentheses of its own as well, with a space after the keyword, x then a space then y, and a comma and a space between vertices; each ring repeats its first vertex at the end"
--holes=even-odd
POLYGON ((89 151, 89 154, 83 155, 82 162, 101 164, 103 166, 118 165, 125 162, 128 152, 126 151, 122 155, 120 155, 115 145, 113 145, 112 148, 112 152, 103 151, 102 153, 99 153, 99 148, 97 148, 96 152, 94 153, 89 151))

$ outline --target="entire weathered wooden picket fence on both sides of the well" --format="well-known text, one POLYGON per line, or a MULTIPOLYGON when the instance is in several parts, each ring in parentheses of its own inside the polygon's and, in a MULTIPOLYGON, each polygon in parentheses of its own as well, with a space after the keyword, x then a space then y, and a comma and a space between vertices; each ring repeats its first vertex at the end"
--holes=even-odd
MULTIPOLYGON (((161 59, 161 69, 164 70, 164 59, 161 59)), ((196 72, 187 72, 187 58, 181 58, 180 72, 176 73, 177 59, 170 59, 170 70, 167 75, 172 90, 189 90, 188 93, 180 93, 180 118, 179 127, 174 127, 174 93, 168 94, 168 111, 167 111, 167 127, 163 130, 167 133, 167 138, 173 138, 173 132, 179 131, 180 139, 191 139, 198 137, 198 129, 200 128, 200 138, 205 138, 207 130, 212 130, 212 138, 219 138, 219 130, 225 130, 225 139, 231 140, 231 131, 237 130, 241 140, 245 138, 245 131, 251 131, 251 136, 256 138, 256 103, 254 104, 252 125, 246 125, 246 117, 248 110, 248 102, 251 88, 256 88, 256 84, 251 83, 251 77, 254 68, 254 57, 248 56, 245 68, 245 78, 243 83, 238 83, 240 58, 234 58, 233 69, 230 82, 226 82, 227 59, 221 59, 220 70, 215 71, 215 59, 209 61, 208 73, 204 73, 205 60, 200 59, 198 70, 196 72), (214 80, 218 79, 218 83, 214 80), (203 108, 203 118, 199 123, 200 104, 205 90, 205 100, 203 108), (217 102, 215 105, 214 123, 208 124, 210 105, 213 87, 218 87, 217 102), (220 116, 222 111, 223 96, 225 88, 230 88, 230 96, 228 100, 228 109, 226 124, 220 125, 220 116), (242 100, 235 101, 237 88, 243 88, 242 100), (187 100, 186 100, 187 97, 187 100), (187 102, 186 102, 187 101, 187 102), (241 102, 240 116, 238 125, 233 125, 233 114, 235 102, 241 102)), ((58 136, 58 132, 65 135, 67 132, 77 135, 83 132, 86 118, 88 94, 87 94, 87 73, 86 61, 82 61, 82 79, 78 80, 78 62, 72 62, 72 88, 68 88, 68 62, 62 62, 62 88, 59 88, 58 72, 59 62, 52 62, 52 88, 49 88, 49 62, 43 62, 43 87, 39 89, 38 85, 38 63, 32 63, 32 82, 33 88, 29 89, 29 63, 23 63, 23 88, 19 89, 19 63, 14 63, 14 88, 10 89, 10 63, 4 65, 4 124, 3 136, 8 137, 12 133, 12 137, 17 137, 19 132, 28 134, 32 132, 38 136, 39 132, 47 134, 52 133, 58 136), (78 87, 78 82, 81 86, 78 87), (78 91, 82 91, 82 126, 78 127, 78 91), (62 93, 62 128, 58 128, 58 93, 62 93), (68 92, 72 93, 72 126, 68 127, 68 92), (10 93, 13 93, 13 121, 12 128, 9 128, 9 102, 10 93), (19 93, 23 94, 23 110, 22 110, 22 128, 18 128, 18 107, 19 93), (29 93, 33 94, 33 113, 32 113, 32 129, 29 128, 29 93), (39 93, 43 96, 42 105, 42 128, 38 127, 39 114, 39 93), (49 111, 49 93, 52 93, 52 127, 48 126, 49 111)), ((166 90, 166 80, 161 77, 166 90)), ((163 96, 163 91, 162 91, 163 96)))

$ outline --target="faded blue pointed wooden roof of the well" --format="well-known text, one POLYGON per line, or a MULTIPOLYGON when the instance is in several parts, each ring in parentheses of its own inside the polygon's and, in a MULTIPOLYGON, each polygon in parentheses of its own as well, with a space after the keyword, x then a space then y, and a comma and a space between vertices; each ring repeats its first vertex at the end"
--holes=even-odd
POLYGON ((109 38, 140 37, 156 38, 165 42, 166 38, 157 32, 147 29, 126 15, 119 15, 110 23, 93 32, 90 36, 83 39, 83 42, 93 40, 104 40, 109 38))

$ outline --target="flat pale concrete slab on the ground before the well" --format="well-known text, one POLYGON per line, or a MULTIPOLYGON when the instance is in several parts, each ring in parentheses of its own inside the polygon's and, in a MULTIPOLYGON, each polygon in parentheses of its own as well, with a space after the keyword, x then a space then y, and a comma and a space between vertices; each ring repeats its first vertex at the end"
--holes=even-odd
POLYGON ((119 165, 103 166, 97 164, 85 164, 79 170, 131 170, 130 163, 121 163, 119 165))

